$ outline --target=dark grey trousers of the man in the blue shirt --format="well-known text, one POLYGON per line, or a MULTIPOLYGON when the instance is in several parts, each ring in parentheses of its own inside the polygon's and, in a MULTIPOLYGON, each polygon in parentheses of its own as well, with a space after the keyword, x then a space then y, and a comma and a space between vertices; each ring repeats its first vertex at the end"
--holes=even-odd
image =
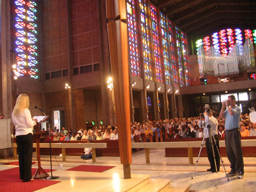
POLYGON ((239 129, 225 130, 226 155, 233 172, 243 172, 243 150, 239 129))

